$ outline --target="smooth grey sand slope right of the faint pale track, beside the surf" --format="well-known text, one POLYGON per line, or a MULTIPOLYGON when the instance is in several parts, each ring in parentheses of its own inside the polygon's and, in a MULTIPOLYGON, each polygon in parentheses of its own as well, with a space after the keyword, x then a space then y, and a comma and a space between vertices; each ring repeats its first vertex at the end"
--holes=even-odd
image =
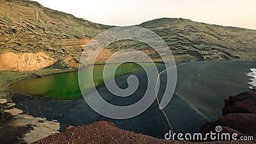
MULTIPOLYGON (((178 68, 176 92, 208 120, 222 114, 224 99, 250 91, 251 78, 245 73, 256 63, 243 61, 200 61, 178 68)), ((168 108, 166 108, 167 110, 168 108)))

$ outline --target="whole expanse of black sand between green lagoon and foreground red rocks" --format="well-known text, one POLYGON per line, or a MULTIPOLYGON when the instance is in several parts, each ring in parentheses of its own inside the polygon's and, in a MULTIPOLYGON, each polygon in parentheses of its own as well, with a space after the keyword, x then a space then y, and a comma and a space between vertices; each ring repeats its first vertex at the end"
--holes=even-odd
MULTIPOLYGON (((216 120, 221 116, 223 99, 227 99, 228 95, 248 90, 250 77, 244 73, 250 72, 250 68, 253 67, 256 67, 255 63, 236 61, 202 61, 178 66, 176 94, 164 108, 173 125, 173 131, 197 132, 208 120, 216 120)), ((111 104, 122 106, 139 100, 138 95, 145 92, 142 87, 147 86, 147 79, 143 72, 132 74, 138 76, 141 87, 131 97, 116 99, 108 93, 105 86, 101 86, 98 90, 104 93, 103 98, 111 104)), ((119 77, 116 83, 125 87, 128 76, 119 77)), ((164 74, 161 77, 164 78, 164 74)), ((161 81, 161 84, 164 86, 164 81, 161 81)), ((86 125, 98 120, 107 120, 120 129, 156 138, 164 138, 164 134, 169 131, 168 124, 159 111, 156 101, 139 116, 126 120, 113 120, 93 111, 83 97, 75 100, 54 100, 40 97, 28 99, 29 97, 20 96, 20 93, 13 93, 17 108, 25 113, 28 112, 29 115, 58 120, 61 123, 61 131, 68 125, 86 125)))

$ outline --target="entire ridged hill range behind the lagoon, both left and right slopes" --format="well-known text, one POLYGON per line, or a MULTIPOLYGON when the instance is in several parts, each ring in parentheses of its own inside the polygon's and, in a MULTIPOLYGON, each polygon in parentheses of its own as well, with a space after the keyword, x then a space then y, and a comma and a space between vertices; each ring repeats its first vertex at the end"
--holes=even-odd
MULTIPOLYGON (((66 67, 77 67, 84 46, 102 31, 113 28, 45 8, 33 1, 0 2, 0 58, 13 63, 0 63, 0 70, 22 71, 17 65, 40 65, 42 59, 44 67, 56 61, 66 67), (16 54, 15 58, 22 60, 13 61, 10 57, 13 53, 10 52, 16 54), (38 52, 43 52, 46 56, 38 52), (36 55, 38 58, 28 58, 33 60, 29 62, 21 53, 26 56, 36 55)), ((148 28, 161 36, 177 61, 256 60, 256 30, 166 18, 150 20, 138 26, 148 28)), ((125 40, 109 45, 99 61, 106 61, 109 55, 124 47, 140 49, 159 60, 156 52, 147 45, 125 40)), ((31 66, 23 70, 38 68, 43 67, 31 66)))

